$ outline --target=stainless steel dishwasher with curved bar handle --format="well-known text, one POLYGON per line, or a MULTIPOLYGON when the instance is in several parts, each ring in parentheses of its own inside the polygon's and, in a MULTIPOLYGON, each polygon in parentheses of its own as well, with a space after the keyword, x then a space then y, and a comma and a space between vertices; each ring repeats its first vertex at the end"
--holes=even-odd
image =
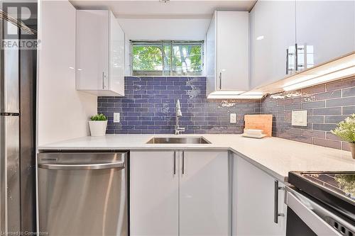
POLYGON ((128 235, 127 153, 38 154, 39 230, 48 235, 128 235))

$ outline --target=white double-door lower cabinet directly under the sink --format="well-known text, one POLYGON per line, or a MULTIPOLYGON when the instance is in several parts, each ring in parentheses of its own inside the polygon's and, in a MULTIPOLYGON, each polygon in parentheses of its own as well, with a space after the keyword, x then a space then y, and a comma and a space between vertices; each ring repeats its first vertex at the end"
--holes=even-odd
POLYGON ((227 151, 131 151, 131 235, 230 235, 227 151))

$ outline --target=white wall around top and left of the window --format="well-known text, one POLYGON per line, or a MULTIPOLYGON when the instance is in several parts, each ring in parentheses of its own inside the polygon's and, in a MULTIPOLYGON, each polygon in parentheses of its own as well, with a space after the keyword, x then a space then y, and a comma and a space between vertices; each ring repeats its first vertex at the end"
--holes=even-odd
POLYGON ((129 40, 204 40, 210 18, 118 18, 126 38, 125 74, 130 75, 129 40))

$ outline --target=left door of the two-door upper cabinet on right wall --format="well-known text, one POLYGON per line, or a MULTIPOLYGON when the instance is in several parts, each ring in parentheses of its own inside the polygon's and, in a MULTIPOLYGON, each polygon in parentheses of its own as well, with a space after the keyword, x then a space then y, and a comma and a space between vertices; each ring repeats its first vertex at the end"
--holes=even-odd
POLYGON ((250 30, 251 89, 290 74, 294 64, 295 1, 257 1, 250 13, 250 30))

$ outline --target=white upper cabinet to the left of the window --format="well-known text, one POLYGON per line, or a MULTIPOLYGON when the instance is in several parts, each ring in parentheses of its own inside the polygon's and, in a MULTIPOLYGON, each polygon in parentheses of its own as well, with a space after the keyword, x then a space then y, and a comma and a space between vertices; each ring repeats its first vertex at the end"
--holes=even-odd
POLYGON ((77 90, 124 96, 124 31, 111 11, 77 10, 77 90))

